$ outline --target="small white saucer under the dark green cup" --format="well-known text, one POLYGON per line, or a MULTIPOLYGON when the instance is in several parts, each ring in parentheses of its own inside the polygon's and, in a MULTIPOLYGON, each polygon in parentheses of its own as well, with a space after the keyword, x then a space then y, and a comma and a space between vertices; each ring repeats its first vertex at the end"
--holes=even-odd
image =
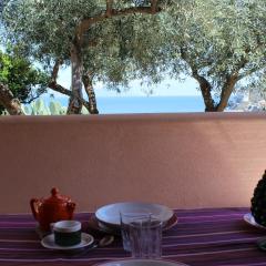
POLYGON ((42 238, 41 244, 42 246, 51 249, 60 249, 60 250, 70 250, 70 249, 75 249, 75 248, 82 248, 85 246, 91 245, 94 242, 93 236, 81 233, 81 243, 74 246, 59 246, 54 243, 54 235, 48 235, 42 238))

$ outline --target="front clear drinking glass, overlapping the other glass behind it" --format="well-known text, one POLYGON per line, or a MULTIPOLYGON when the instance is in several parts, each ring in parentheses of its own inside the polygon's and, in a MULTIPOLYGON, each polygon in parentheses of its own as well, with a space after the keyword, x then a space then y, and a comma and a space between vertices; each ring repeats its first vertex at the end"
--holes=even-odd
POLYGON ((161 258, 162 222, 152 218, 130 224, 131 253, 134 258, 161 258))

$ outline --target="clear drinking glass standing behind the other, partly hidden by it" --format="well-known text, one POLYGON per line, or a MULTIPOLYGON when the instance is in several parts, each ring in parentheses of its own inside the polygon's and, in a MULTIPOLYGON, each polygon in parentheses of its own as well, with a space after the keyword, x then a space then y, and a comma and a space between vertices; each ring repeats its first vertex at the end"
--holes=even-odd
POLYGON ((130 226, 134 224, 150 223, 151 214, 149 212, 120 212, 121 235, 123 248, 131 252, 130 226))

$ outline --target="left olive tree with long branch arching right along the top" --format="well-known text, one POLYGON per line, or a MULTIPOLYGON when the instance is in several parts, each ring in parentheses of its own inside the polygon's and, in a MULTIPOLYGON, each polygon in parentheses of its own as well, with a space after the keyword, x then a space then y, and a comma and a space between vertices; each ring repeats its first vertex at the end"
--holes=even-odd
MULTIPOLYGON (((104 42, 102 40, 110 37, 106 29, 104 35, 99 37, 99 24, 110 27, 116 18, 136 13, 155 14, 168 2, 163 0, 6 0, 3 23, 7 40, 12 43, 23 43, 25 54, 44 65, 53 65, 49 86, 69 95, 68 113, 78 114, 82 105, 89 110, 93 108, 93 102, 88 103, 83 99, 82 81, 88 89, 89 98, 93 99, 93 90, 90 90, 92 76, 100 69, 94 62, 101 62, 101 60, 95 60, 99 54, 92 54, 90 50, 99 47, 99 43, 101 45, 104 42), (71 91, 57 83, 59 68, 62 64, 71 65, 71 91)), ((112 47, 114 38, 110 39, 109 45, 112 47)), ((112 74, 112 71, 105 71, 105 73, 112 74)))

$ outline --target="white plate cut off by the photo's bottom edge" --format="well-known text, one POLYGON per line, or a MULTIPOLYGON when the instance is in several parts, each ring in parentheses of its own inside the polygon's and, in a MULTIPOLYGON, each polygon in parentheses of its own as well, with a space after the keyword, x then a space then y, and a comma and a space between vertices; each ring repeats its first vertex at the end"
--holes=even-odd
POLYGON ((98 266, 187 266, 187 264, 161 259, 126 259, 99 264, 98 266))

